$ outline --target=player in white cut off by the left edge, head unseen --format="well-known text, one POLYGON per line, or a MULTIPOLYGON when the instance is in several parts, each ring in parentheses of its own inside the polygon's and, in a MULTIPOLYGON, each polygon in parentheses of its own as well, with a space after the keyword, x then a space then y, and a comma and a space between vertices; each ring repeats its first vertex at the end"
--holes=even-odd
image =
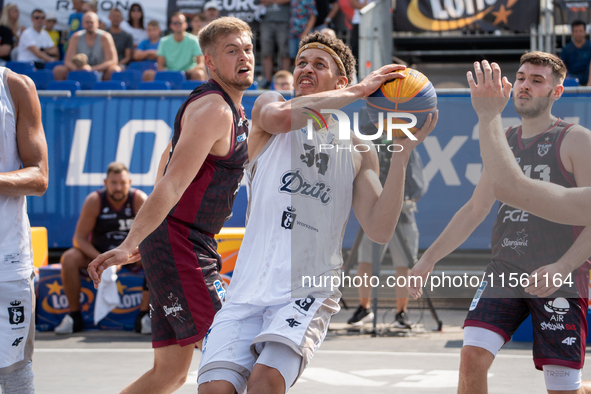
POLYGON ((35 85, 4 67, 0 133, 0 388, 34 393, 35 292, 25 196, 47 189, 47 143, 35 85))

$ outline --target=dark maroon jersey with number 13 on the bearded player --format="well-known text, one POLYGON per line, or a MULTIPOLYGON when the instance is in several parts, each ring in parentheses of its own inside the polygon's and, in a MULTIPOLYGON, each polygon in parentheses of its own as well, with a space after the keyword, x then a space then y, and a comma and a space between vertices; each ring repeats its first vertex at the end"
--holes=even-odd
MULTIPOLYGON (((576 187, 560 157, 560 146, 572 126, 558 119, 527 145, 521 140, 521 126, 507 130, 509 146, 527 177, 576 187)), ((530 273, 558 261, 582 230, 583 227, 550 222, 499 202, 492 232, 492 258, 510 265, 513 272, 530 273)), ((581 269, 588 270, 588 264, 581 269)))

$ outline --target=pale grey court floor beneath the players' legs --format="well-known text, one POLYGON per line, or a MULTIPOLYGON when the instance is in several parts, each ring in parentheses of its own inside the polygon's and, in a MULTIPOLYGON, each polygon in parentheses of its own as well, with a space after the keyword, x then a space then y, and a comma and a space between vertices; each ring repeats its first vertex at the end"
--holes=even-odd
MULTIPOLYGON (((456 393, 462 345, 463 310, 440 310, 443 332, 430 332, 433 320, 426 313, 424 326, 409 333, 391 330, 372 337, 347 330, 353 313, 335 316, 326 341, 310 366, 290 390, 294 394, 348 393, 456 393)), ((385 310, 380 310, 379 322, 385 310)), ((420 314, 411 311, 418 321, 420 314)), ((389 315, 386 315, 387 322, 389 315)), ((196 393, 199 351, 195 351, 190 376, 178 393, 196 393)), ((591 357, 583 378, 591 379, 591 357)), ((37 333, 34 358, 38 393, 118 393, 152 365, 149 336, 131 332, 91 331, 58 337, 37 333)), ((534 368, 531 343, 509 342, 489 373, 490 393, 545 393, 543 376, 534 368)))

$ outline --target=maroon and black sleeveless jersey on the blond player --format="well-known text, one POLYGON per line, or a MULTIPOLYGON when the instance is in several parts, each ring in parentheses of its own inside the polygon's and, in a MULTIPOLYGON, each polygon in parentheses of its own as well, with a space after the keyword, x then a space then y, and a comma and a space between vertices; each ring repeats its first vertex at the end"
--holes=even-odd
MULTIPOLYGON (((204 234, 213 236, 232 216, 232 205, 238 193, 248 159, 246 138, 248 120, 244 110, 236 108, 234 102, 215 81, 198 86, 181 105, 174 121, 174 135, 170 158, 181 135, 181 119, 187 105, 209 94, 219 94, 232 109, 232 146, 225 157, 208 155, 199 172, 183 193, 179 202, 168 214, 168 219, 180 221, 204 234)), ((197 148, 197 147, 195 147, 197 148)), ((165 170, 166 172, 166 170, 165 170)))

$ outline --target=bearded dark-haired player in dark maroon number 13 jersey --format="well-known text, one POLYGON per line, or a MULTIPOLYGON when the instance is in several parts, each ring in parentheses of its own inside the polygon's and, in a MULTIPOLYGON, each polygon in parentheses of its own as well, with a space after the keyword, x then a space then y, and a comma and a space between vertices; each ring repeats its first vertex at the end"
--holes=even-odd
MULTIPOLYGON (((483 62, 483 68, 484 73, 480 65, 475 66, 478 85, 471 73, 468 76, 472 103, 479 115, 481 138, 484 134, 491 134, 492 128, 502 128, 500 113, 511 89, 506 78, 501 83, 498 65, 491 68, 488 62, 483 62)), ((525 176, 543 181, 539 184, 558 185, 554 188, 587 187, 591 185, 591 173, 588 171, 591 167, 588 154, 591 133, 551 114, 553 102, 560 98, 564 90, 562 81, 565 75, 564 64, 554 55, 532 52, 522 56, 513 101, 523 123, 507 130, 504 138, 512 153, 510 158, 507 157, 505 149, 504 161, 517 163, 519 171, 525 176)), ((495 134, 499 139, 498 130, 495 134)), ((485 144, 481 141, 481 145, 485 144)), ((488 147, 483 149, 484 170, 472 198, 456 213, 410 275, 425 278, 435 263, 458 247, 490 211, 498 184, 506 181, 501 180, 498 173, 494 181, 489 177, 490 167, 498 160, 491 158, 491 153, 488 147), (488 150, 487 156, 484 150, 488 150)), ((547 272, 547 267, 560 260, 565 253, 576 253, 573 250, 578 249, 581 241, 588 236, 583 234, 583 239, 575 242, 581 234, 581 227, 557 223, 564 223, 565 220, 556 220, 555 213, 547 215, 540 212, 542 217, 539 217, 526 211, 529 209, 528 202, 538 198, 537 195, 528 196, 521 196, 522 201, 516 204, 517 207, 508 205, 501 197, 493 227, 492 262, 487 267, 485 279, 472 301, 465 322, 459 393, 487 392, 487 371, 496 353, 530 314, 534 329, 534 364, 544 371, 548 392, 591 392, 589 382, 582 382, 581 379, 587 338, 589 265, 586 259, 589 253, 580 255, 569 271, 552 272, 560 273, 558 282, 564 286, 542 289, 542 284, 533 275, 547 272), (502 286, 498 280, 493 289, 491 281, 503 274, 506 277, 525 274, 526 278, 531 274, 526 283, 527 289, 520 285, 509 286, 508 282, 502 286), (568 274, 571 274, 570 280, 567 279, 568 274), (567 280, 573 282, 568 289, 564 283, 567 280), (553 298, 532 297, 553 293, 553 298)), ((546 210, 556 208, 546 206, 546 210)), ((550 275, 549 282, 553 282, 553 278, 550 275)), ((410 290, 415 297, 421 294, 418 287, 410 290)))

